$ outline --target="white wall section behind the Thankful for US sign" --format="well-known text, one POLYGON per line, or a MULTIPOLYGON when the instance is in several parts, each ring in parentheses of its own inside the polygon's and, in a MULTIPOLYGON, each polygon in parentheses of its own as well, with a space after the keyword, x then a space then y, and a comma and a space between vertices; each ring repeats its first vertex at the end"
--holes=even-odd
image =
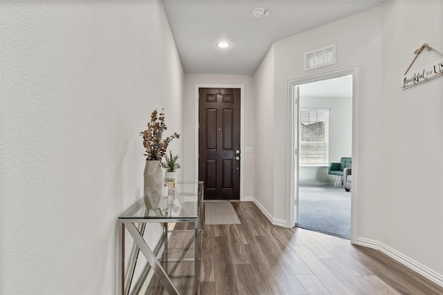
MULTIPOLYGON (((377 240, 440 274, 441 285, 443 77, 405 90, 400 88, 400 78, 423 43, 443 53, 443 19, 433 17, 442 13, 442 1, 388 1, 383 5, 379 116, 383 133, 377 142, 383 148, 380 160, 384 164, 381 194, 374 200, 383 224, 377 240), (420 167, 423 173, 413 173, 420 167)), ((441 54, 424 50, 411 70, 439 59, 441 54)))

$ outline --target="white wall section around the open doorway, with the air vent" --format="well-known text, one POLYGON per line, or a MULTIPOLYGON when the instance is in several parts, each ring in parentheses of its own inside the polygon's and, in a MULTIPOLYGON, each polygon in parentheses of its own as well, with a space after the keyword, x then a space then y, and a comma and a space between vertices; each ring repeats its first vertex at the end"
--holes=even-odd
MULTIPOLYGON (((381 8, 375 8, 359 15, 347 17, 314 30, 277 41, 273 44, 269 54, 271 52, 274 55, 274 64, 273 67, 269 66, 267 71, 273 73, 268 73, 267 75, 271 78, 273 77, 274 83, 273 101, 271 102, 273 107, 268 108, 269 111, 273 110, 272 115, 269 116, 270 122, 268 123, 273 128, 274 156, 273 160, 271 160, 273 172, 261 171, 262 176, 260 180, 263 182, 273 178, 274 207, 271 209, 272 215, 275 219, 287 220, 286 172, 287 164, 289 164, 286 158, 286 137, 289 127, 287 121, 287 83, 290 79, 301 79, 312 75, 329 73, 334 70, 342 70, 343 68, 360 66, 359 79, 361 84, 357 91, 359 91, 360 99, 359 108, 365 110, 365 112, 359 114, 360 127, 356 132, 364 134, 365 136, 360 138, 365 138, 365 140, 377 138, 380 123, 378 121, 373 122, 373 115, 374 113, 377 114, 377 111, 380 112, 377 102, 381 101, 381 82, 379 79, 381 76, 381 8), (332 66, 305 72, 303 69, 303 54, 309 50, 322 48, 329 44, 336 44, 337 63, 332 66)), ((262 66, 265 64, 266 61, 262 63, 262 66)), ((264 82, 264 79, 260 80, 261 82, 264 82)), ((257 85, 257 87, 259 86, 257 85)), ((269 99, 272 98, 270 97, 269 99)), ((257 117, 259 116, 257 115, 257 117)), ((379 147, 371 146, 368 149, 366 142, 360 142, 359 146, 361 146, 359 155, 362 158, 361 161, 365 164, 364 171, 360 172, 365 182, 359 185, 363 186, 363 189, 369 185, 369 194, 373 192, 378 193, 377 186, 372 184, 378 181, 379 166, 374 164, 372 159, 378 158, 379 147)), ((365 191, 363 190, 364 194, 365 191)), ((364 202, 362 203, 365 204, 364 202)), ((372 214, 373 209, 377 208, 377 206, 370 207, 370 205, 367 205, 364 208, 368 210, 368 213, 365 213, 362 209, 362 214, 364 215, 361 218, 368 218, 369 222, 372 222, 372 225, 377 228, 379 221, 372 214)), ((266 209, 268 208, 266 207, 266 209)), ((372 227, 365 230, 372 231, 372 227)), ((374 233, 369 232, 368 234, 372 235, 374 233)))

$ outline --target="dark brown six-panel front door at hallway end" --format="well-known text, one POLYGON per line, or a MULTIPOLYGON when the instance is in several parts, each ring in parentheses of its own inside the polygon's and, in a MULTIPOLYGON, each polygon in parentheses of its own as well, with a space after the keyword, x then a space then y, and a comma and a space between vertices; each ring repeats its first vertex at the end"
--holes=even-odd
POLYGON ((240 199, 240 89, 199 88, 199 180, 205 200, 240 199))

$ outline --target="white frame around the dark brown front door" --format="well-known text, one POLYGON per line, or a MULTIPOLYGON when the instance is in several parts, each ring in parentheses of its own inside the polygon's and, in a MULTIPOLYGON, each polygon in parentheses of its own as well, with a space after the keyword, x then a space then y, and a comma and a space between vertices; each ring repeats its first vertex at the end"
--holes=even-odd
POLYGON ((195 84, 195 164, 194 179, 199 179, 199 88, 240 89, 240 201, 244 199, 244 84, 195 84))

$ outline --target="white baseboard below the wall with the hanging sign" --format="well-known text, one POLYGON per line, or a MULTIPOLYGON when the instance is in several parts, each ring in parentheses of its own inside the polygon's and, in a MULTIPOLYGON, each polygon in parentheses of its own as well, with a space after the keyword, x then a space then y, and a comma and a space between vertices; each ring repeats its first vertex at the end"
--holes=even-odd
POLYGON ((417 263, 417 261, 409 258, 408 256, 405 256, 404 254, 401 254, 399 251, 396 251, 395 249, 392 249, 391 247, 388 247, 381 242, 377 242, 375 240, 369 240, 366 238, 357 238, 356 244, 379 250, 384 254, 388 255, 390 258, 397 260, 402 265, 405 265, 406 267, 413 269, 413 271, 421 274, 425 278, 428 278, 428 280, 432 280, 437 285, 443 287, 442 274, 434 272, 432 269, 429 269, 428 267, 425 267, 424 265, 417 263))

